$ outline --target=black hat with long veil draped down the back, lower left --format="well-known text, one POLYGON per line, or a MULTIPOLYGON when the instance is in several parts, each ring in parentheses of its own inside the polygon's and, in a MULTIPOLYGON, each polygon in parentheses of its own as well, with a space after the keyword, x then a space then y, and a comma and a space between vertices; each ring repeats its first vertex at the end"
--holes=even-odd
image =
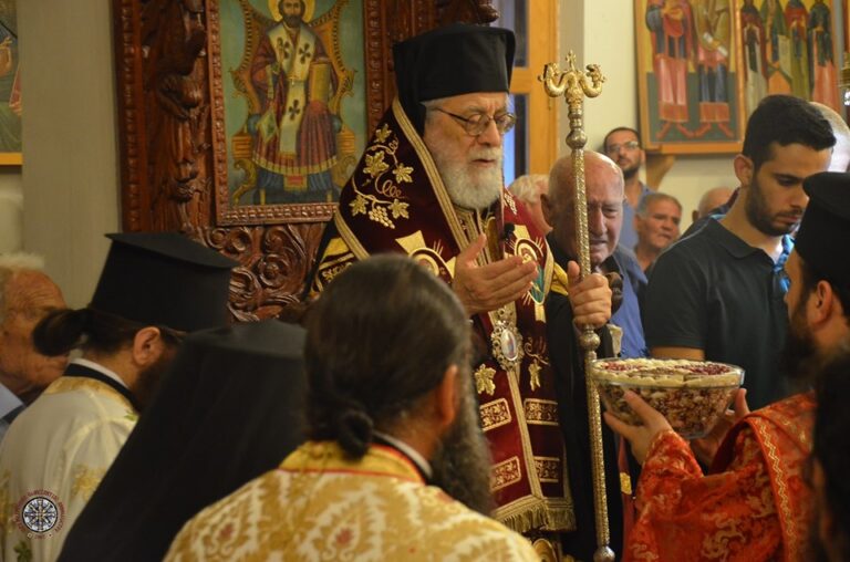
POLYGON ((198 511, 279 466, 304 439, 304 334, 267 320, 186 337, 59 560, 162 560, 198 511))

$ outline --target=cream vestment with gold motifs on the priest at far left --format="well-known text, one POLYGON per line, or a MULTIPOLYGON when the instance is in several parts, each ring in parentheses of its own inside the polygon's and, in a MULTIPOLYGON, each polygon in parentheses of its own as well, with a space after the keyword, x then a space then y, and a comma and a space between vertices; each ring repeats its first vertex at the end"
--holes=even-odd
POLYGON ((113 387, 62 376, 15 418, 0 445, 2 560, 51 562, 59 556, 137 417, 113 387), (56 518, 52 528, 33 533, 22 513, 38 497, 54 503, 56 518))

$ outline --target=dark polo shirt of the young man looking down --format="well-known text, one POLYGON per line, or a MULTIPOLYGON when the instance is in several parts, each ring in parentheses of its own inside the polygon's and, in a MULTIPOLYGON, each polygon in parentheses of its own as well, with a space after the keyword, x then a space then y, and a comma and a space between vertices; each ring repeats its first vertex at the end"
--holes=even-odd
POLYGON ((788 283, 782 271, 792 248, 782 239, 774 260, 709 219, 655 261, 643 305, 652 347, 696 347, 705 358, 739 365, 751 409, 787 394, 779 374, 785 344, 788 283))

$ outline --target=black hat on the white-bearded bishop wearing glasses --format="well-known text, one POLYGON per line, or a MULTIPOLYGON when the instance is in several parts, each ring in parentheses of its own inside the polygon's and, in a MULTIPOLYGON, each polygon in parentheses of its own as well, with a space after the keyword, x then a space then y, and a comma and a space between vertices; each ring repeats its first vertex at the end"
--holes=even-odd
POLYGON ((508 92, 514 32, 453 23, 393 46, 398 100, 416 131, 425 127, 421 102, 473 92, 508 92))

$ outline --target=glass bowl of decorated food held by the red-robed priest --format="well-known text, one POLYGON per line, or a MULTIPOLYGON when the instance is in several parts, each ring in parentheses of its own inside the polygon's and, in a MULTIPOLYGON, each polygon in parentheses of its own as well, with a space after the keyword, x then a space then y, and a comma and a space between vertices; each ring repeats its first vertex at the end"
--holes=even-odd
POLYGON ((630 425, 642 425, 623 399, 634 391, 667 418, 685 439, 705 437, 744 382, 736 365, 688 360, 597 360, 590 366, 605 409, 630 425))

